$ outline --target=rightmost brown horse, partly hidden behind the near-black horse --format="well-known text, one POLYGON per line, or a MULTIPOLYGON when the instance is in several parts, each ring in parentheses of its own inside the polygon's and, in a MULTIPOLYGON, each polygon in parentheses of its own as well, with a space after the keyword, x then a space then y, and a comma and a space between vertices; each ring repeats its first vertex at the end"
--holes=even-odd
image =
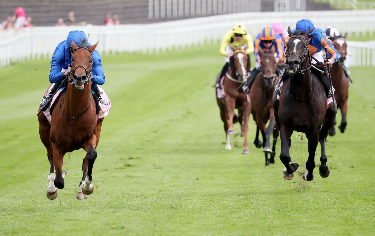
MULTIPOLYGON (((341 124, 339 126, 340 132, 344 133, 347 127, 347 111, 348 111, 348 89, 349 89, 349 78, 344 72, 344 61, 347 56, 347 38, 348 33, 344 36, 334 34, 332 38, 332 44, 336 50, 340 53, 340 58, 336 63, 333 63, 331 68, 332 74, 332 86, 335 88, 335 99, 337 107, 341 111, 341 124)), ((335 121, 336 124, 336 121, 335 121)), ((328 134, 333 136, 336 134, 335 125, 329 130, 328 134)))

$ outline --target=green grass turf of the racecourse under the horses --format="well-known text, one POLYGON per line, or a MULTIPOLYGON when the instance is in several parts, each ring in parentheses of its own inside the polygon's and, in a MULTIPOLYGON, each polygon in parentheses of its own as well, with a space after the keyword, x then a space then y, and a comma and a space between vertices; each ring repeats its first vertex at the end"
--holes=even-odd
POLYGON ((252 144, 252 120, 251 154, 241 154, 241 137, 231 138, 233 150, 224 149, 213 88, 224 63, 218 47, 102 56, 113 107, 86 201, 75 199, 83 150, 65 155, 68 174, 58 197, 45 195, 49 163, 36 112, 49 59, 1 69, 1 234, 373 234, 374 68, 350 68, 347 131, 326 143, 330 176, 319 176, 318 146, 315 178, 302 179, 307 140, 294 132, 290 153, 300 167, 284 180, 280 140, 276 163, 265 167, 252 144))

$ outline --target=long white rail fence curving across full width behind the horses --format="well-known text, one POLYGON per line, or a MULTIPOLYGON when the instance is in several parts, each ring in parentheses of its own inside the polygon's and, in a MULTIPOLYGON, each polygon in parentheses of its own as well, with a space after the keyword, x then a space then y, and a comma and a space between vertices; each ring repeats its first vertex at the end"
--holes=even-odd
MULTIPOLYGON (((34 27, 18 32, 0 32, 0 68, 30 58, 51 57, 56 45, 66 39, 70 30, 83 30, 90 42, 99 41, 97 48, 101 54, 135 51, 159 53, 173 48, 216 43, 237 22, 245 24, 247 32, 255 38, 263 27, 274 22, 281 22, 285 28, 294 28, 301 18, 310 18, 315 27, 321 29, 333 25, 342 33, 363 34, 375 30, 375 10, 246 12, 143 25, 34 27)), ((368 45, 359 43, 352 46, 369 48, 368 45)), ((363 54, 363 50, 360 51, 363 54)), ((373 58, 374 51, 370 50, 369 55, 373 58)), ((359 65, 356 63, 358 62, 352 61, 351 65, 359 65)), ((361 63, 360 65, 365 65, 363 60, 361 63)), ((371 65, 374 65, 374 60, 371 65)))

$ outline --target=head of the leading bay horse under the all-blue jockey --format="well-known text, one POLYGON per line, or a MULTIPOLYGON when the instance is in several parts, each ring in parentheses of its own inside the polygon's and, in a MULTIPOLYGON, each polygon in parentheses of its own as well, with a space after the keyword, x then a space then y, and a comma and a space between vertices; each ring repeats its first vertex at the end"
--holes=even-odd
POLYGON ((75 89, 82 91, 84 85, 89 83, 93 65, 92 53, 95 51, 98 43, 90 46, 87 42, 81 42, 77 46, 72 40, 72 57, 71 57, 71 80, 75 89), (74 68, 74 69, 72 69, 74 68))

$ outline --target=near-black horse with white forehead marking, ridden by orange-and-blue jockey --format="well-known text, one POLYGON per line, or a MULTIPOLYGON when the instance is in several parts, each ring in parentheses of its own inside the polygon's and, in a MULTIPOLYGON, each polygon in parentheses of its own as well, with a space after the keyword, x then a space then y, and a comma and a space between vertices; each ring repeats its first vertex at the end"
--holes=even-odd
MULTIPOLYGON (((308 139, 309 157, 306 162, 308 172, 303 174, 303 179, 311 181, 314 178, 314 157, 318 141, 321 146, 320 176, 325 178, 330 174, 330 169, 326 164, 327 155, 324 143, 329 129, 335 122, 337 109, 333 107, 333 103, 327 105, 324 87, 317 76, 311 72, 311 56, 307 42, 310 28, 305 33, 301 30, 295 30, 292 33, 288 27, 288 33, 290 39, 287 42, 285 55, 289 79, 284 83, 280 99, 277 99, 276 93, 273 95, 275 120, 281 138, 280 160, 285 165, 283 177, 293 179, 293 173, 299 165, 296 162, 291 163, 290 137, 293 131, 305 133, 308 139)), ((333 102, 335 102, 334 98, 333 102)))

